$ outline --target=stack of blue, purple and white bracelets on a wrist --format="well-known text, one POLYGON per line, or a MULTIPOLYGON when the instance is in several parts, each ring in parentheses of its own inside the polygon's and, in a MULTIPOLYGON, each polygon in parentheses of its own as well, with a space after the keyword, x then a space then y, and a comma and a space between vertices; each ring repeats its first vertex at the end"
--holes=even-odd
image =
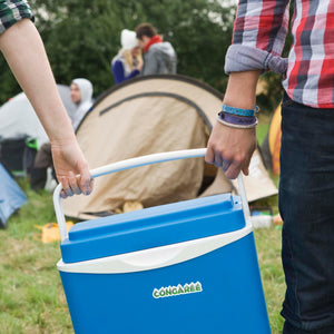
POLYGON ((223 105, 222 111, 218 112, 218 121, 237 129, 249 129, 257 125, 255 115, 258 112, 258 107, 254 109, 239 109, 223 105))

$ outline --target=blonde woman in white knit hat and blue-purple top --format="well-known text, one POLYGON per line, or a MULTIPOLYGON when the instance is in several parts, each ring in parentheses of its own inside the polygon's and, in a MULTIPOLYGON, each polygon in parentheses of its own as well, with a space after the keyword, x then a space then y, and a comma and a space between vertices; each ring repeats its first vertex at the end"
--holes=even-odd
POLYGON ((143 58, 136 32, 124 29, 120 33, 120 51, 111 60, 115 84, 138 76, 143 68, 143 58))

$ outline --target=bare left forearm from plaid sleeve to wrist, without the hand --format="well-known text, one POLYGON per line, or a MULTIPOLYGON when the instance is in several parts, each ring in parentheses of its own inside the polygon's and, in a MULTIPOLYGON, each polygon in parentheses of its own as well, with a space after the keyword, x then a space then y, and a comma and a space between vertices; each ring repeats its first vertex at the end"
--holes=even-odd
POLYGON ((72 140, 71 124, 58 94, 43 43, 33 23, 23 19, 6 30, 0 36, 0 49, 33 106, 50 141, 72 140))

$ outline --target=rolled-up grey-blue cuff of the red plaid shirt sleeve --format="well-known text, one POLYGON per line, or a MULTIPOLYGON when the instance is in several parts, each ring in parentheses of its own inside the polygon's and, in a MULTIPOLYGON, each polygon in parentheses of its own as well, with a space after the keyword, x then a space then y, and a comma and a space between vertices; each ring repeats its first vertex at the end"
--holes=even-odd
POLYGON ((273 53, 257 48, 232 45, 225 58, 225 72, 242 72, 249 70, 273 70, 285 75, 287 58, 274 56, 273 53))

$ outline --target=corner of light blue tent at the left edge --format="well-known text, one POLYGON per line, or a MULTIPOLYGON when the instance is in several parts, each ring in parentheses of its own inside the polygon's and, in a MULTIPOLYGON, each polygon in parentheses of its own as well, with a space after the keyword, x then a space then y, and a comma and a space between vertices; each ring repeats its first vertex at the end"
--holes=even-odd
POLYGON ((0 163, 0 227, 27 202, 26 195, 0 163))

